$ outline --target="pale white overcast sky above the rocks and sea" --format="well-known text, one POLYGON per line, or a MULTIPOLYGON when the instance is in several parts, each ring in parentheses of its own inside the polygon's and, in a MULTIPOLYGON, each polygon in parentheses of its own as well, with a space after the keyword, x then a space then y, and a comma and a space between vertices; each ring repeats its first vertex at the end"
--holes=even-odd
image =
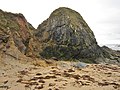
POLYGON ((78 11, 99 44, 120 44, 120 0, 0 0, 0 9, 24 14, 35 28, 58 7, 78 11))

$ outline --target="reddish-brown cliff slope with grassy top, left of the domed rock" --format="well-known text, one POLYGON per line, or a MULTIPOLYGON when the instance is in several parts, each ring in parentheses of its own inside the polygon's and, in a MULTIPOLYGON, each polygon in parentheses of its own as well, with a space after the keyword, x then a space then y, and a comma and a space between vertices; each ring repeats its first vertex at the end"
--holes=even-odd
POLYGON ((29 55, 29 41, 33 38, 34 28, 22 14, 0 10, 0 52, 29 55))

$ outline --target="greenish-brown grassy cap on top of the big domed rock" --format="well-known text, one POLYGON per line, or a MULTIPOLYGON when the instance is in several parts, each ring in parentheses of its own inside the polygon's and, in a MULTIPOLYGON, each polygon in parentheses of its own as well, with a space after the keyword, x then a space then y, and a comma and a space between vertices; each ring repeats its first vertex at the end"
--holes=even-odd
POLYGON ((64 19, 68 19, 70 21, 70 27, 74 30, 81 25, 84 27, 88 27, 87 23, 83 20, 83 17, 76 11, 67 8, 67 7, 60 7, 52 12, 50 18, 55 17, 63 17, 64 19), (64 17, 63 17, 64 16, 64 17))

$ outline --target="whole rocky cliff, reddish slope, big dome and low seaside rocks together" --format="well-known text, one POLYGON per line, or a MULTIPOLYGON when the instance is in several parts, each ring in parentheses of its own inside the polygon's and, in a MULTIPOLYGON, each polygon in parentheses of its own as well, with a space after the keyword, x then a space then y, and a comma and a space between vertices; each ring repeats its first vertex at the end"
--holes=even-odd
POLYGON ((120 64, 120 52, 99 47, 82 16, 65 7, 53 11, 37 29, 22 14, 0 10, 0 58, 4 55, 120 64))

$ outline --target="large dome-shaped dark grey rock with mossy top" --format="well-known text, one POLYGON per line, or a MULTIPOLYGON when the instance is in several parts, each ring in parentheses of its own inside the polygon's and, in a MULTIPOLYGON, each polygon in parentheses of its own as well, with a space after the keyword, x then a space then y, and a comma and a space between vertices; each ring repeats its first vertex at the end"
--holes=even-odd
POLYGON ((80 59, 102 57, 95 36, 82 16, 61 7, 38 26, 36 37, 41 43, 40 55, 45 58, 80 59))

